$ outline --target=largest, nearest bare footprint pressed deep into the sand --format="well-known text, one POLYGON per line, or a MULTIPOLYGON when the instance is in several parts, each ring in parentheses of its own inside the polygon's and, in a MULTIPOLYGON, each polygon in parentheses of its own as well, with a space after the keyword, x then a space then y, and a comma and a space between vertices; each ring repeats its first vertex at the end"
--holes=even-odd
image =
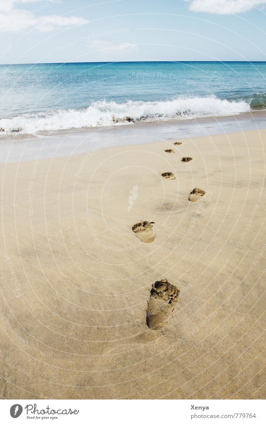
POLYGON ((179 294, 180 291, 167 280, 156 281, 152 285, 146 317, 150 329, 159 330, 165 326, 177 304, 179 294))

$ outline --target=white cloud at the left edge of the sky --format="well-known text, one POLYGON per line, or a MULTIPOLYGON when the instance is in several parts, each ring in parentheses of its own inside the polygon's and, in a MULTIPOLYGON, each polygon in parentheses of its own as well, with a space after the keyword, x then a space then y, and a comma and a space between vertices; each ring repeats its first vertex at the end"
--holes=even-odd
MULTIPOLYGON (((52 31, 61 26, 81 25, 88 20, 78 16, 47 15, 37 16, 29 10, 16 8, 16 4, 37 3, 43 0, 0 0, 0 31, 21 31, 36 28, 39 31, 52 31)), ((47 0, 45 0, 47 2, 47 0)), ((48 0, 53 2, 54 0, 48 0)))

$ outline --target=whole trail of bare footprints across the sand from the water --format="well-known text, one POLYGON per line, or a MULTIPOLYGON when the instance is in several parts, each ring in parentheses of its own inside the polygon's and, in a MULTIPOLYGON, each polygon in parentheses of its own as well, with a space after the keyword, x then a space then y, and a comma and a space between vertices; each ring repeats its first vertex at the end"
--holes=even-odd
MULTIPOLYGON (((175 146, 181 145, 181 141, 176 141, 175 146)), ((175 153, 174 149, 166 149, 166 153, 175 153)), ((193 158, 184 156, 182 162, 190 162, 193 158)), ((175 180, 173 172, 163 172, 162 177, 168 180, 175 180)), ((194 188, 189 196, 190 202, 197 202, 205 195, 205 191, 201 188, 194 188)), ((152 243, 155 239, 152 227, 153 221, 141 221, 133 225, 132 231, 143 243, 152 243)), ((178 302, 180 291, 176 286, 170 284, 166 279, 156 281, 152 285, 150 291, 150 299, 148 301, 146 323, 151 330, 160 330, 167 324, 174 308, 178 302)))

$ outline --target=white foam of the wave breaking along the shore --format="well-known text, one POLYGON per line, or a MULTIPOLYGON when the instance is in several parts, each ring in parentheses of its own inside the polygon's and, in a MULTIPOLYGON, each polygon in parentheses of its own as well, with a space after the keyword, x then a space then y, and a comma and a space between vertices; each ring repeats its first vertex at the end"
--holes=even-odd
POLYGON ((168 101, 98 101, 87 108, 54 110, 22 114, 0 119, 0 134, 32 134, 69 128, 130 124, 136 121, 190 119, 203 116, 229 116, 250 110, 245 101, 221 100, 217 97, 179 97, 168 101), (130 119, 128 119, 130 117, 130 119))

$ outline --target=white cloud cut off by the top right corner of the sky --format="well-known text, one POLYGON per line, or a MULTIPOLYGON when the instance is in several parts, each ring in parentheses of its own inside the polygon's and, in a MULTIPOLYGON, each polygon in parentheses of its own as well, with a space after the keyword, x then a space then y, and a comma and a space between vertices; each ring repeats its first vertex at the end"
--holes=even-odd
POLYGON ((266 0, 190 0, 189 9, 217 14, 242 13, 266 4, 266 0))

